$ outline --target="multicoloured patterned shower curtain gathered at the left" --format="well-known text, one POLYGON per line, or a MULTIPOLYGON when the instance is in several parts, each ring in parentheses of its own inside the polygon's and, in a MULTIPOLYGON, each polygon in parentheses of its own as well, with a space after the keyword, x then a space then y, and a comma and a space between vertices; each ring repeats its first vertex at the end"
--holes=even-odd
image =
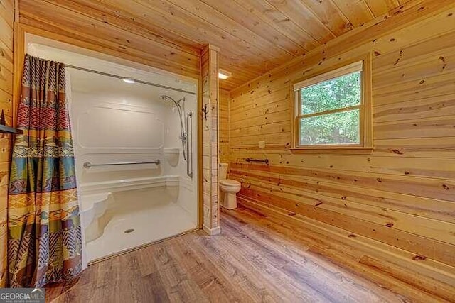
POLYGON ((81 231, 65 66, 26 55, 8 202, 11 287, 81 271, 81 231))

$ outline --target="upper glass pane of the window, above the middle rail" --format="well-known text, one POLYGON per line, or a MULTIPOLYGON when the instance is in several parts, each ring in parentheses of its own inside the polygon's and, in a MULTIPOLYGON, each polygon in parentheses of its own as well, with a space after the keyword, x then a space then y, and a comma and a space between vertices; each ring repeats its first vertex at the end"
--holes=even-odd
POLYGON ((360 71, 301 89, 301 114, 313 114, 360 104, 360 71))

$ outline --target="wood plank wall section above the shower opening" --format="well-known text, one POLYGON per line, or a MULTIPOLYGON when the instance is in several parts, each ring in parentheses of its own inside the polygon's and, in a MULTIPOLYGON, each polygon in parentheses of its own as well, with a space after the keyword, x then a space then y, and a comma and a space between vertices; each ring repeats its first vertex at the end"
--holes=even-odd
MULTIPOLYGON (((95 4, 95 3, 94 3, 95 4)), ((45 37, 198 79, 200 50, 73 1, 19 1, 19 21, 45 37), (50 34, 51 33, 51 34, 50 34)), ((27 29, 27 28, 26 28, 27 29)))

